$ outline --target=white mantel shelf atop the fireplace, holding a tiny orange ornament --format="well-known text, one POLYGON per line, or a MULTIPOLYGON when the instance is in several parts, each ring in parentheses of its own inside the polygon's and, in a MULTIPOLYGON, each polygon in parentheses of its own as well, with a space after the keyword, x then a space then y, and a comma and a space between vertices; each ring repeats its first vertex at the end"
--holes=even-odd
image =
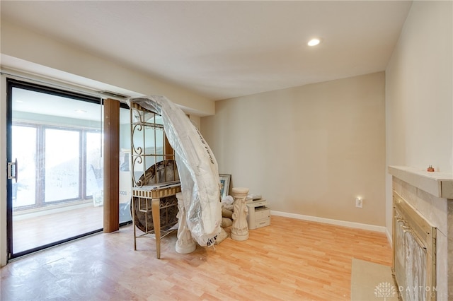
POLYGON ((389 166, 389 174, 433 196, 453 199, 452 174, 427 172, 426 170, 409 166, 389 166))

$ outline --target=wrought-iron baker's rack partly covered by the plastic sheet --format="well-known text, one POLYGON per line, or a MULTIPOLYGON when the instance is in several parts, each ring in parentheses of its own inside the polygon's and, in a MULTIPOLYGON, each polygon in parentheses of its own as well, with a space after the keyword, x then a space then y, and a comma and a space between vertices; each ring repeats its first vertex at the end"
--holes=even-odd
POLYGON ((181 188, 175 153, 159 114, 131 102, 130 121, 134 249, 137 238, 153 237, 160 258, 161 238, 177 230, 176 194, 181 188))

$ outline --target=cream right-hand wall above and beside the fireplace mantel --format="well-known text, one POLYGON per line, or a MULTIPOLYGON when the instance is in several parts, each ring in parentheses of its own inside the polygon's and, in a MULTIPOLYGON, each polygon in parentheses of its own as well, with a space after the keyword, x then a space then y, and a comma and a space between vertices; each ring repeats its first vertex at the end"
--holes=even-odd
MULTIPOLYGON (((386 165, 453 172, 453 2, 414 1, 386 68, 386 165)), ((391 230, 391 176, 386 227, 391 230)))

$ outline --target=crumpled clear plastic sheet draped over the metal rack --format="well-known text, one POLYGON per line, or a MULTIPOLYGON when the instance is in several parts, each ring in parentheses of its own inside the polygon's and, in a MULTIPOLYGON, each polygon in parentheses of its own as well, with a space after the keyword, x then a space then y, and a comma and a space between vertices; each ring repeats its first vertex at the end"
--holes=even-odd
POLYGON ((222 230, 219 168, 200 131, 165 96, 127 100, 162 116, 168 142, 176 153, 188 229, 200 246, 214 244, 222 230))

